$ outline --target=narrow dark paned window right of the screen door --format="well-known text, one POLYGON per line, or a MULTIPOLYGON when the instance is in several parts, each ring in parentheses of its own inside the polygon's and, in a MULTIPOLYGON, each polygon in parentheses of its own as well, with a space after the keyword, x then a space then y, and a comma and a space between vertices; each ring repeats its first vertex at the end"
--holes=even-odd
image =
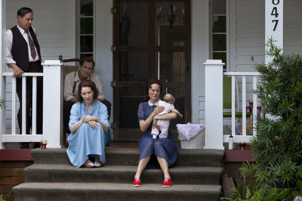
POLYGON ((227 28, 227 0, 212 0, 212 9, 210 7, 210 57, 212 59, 221 59, 225 65, 223 70, 226 71, 228 58, 228 28, 227 28))

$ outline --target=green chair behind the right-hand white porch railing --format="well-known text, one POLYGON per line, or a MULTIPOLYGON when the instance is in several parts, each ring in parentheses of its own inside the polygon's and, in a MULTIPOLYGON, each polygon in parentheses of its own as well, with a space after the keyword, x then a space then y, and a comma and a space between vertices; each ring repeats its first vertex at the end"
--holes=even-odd
MULTIPOLYGON (((237 102, 235 101, 235 107, 237 107, 237 104, 239 105, 239 97, 238 97, 238 87, 237 90, 237 102)), ((244 104, 243 104, 244 105, 244 104)), ((245 108, 245 106, 243 107, 245 108)), ((232 109, 232 77, 223 77, 223 109, 232 109)), ((237 108, 238 111, 235 111, 235 117, 236 118, 242 118, 242 112, 239 111, 239 108, 237 108)), ((251 113, 246 112, 246 118, 250 119, 251 113)), ((223 112, 223 117, 232 117, 232 111, 223 112)))

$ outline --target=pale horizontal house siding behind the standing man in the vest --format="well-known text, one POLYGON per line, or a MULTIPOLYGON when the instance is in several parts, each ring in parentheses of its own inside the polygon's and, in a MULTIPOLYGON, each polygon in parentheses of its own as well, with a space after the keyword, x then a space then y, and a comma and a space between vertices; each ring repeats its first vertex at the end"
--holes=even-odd
MULTIPOLYGON (((29 7, 34 11, 32 26, 37 30, 42 61, 75 58, 74 0, 9 0, 6 1, 6 29, 17 24, 17 11, 29 7)), ((6 67, 6 72, 12 70, 6 67)), ((6 133, 11 133, 11 78, 6 80, 6 133)), ((17 98, 18 100, 18 98, 17 98)), ((19 108, 19 100, 16 108, 19 108)), ((16 111, 18 112, 18 110, 16 111)), ((18 122, 16 120, 18 127, 18 122)), ((16 131, 19 132, 19 129, 16 131)))

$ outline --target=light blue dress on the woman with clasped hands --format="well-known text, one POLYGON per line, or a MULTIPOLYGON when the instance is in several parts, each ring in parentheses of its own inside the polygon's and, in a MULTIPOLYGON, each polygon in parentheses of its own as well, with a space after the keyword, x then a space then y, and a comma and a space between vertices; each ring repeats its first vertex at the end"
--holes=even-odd
MULTIPOLYGON (((71 126, 82 119, 84 116, 90 115, 98 117, 109 128, 107 107, 98 100, 93 100, 93 105, 88 114, 84 101, 74 104, 70 111, 69 129, 71 126)), ((93 130, 89 123, 82 123, 75 133, 70 133, 68 136, 69 147, 67 155, 73 166, 81 167, 88 156, 94 158, 97 154, 100 156, 100 161, 105 164, 105 144, 106 135, 101 125, 93 130)))

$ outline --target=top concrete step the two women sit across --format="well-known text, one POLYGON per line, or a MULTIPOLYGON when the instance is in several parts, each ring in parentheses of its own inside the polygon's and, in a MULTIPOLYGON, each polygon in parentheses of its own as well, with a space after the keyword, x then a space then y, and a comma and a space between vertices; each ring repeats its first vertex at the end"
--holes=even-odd
MULTIPOLYGON (((70 164, 65 148, 33 149, 31 155, 35 164, 70 164)), ((139 149, 110 148, 105 155, 106 165, 137 166, 139 149)), ((224 155, 218 149, 179 149, 175 165, 221 167, 224 155)))

